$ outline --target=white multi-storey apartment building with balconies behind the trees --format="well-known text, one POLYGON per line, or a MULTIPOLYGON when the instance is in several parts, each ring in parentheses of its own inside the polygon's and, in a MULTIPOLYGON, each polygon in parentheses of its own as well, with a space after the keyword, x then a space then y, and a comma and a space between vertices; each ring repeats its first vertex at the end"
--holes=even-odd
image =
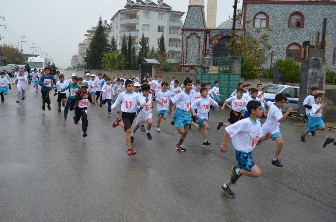
POLYGON ((132 43, 138 51, 139 39, 144 34, 149 47, 158 48, 162 33, 168 51, 168 62, 180 63, 182 46, 182 16, 184 12, 173 11, 172 7, 154 1, 127 1, 125 9, 119 10, 111 18, 111 35, 115 37, 119 50, 124 34, 131 34, 132 43))

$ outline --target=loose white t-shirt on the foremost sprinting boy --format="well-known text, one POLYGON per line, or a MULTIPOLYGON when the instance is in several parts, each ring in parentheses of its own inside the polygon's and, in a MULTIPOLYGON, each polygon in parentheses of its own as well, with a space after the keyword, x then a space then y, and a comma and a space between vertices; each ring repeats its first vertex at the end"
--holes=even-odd
POLYGON ((231 137, 233 147, 245 153, 251 152, 263 135, 260 121, 253 121, 251 118, 235 122, 225 130, 231 137))

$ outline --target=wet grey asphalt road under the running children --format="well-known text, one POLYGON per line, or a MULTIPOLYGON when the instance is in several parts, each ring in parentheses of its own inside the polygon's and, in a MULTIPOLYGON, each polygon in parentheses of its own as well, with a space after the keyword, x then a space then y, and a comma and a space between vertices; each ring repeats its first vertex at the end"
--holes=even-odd
MULTIPOLYGON (((65 71, 69 76, 70 71, 65 71)), ((14 86, 0 104, 0 221, 334 221, 336 218, 336 149, 322 148, 326 135, 299 139, 304 125, 294 118, 281 123, 284 167, 271 165, 275 142, 253 151, 260 178, 242 177, 231 187, 235 199, 220 186, 235 163, 234 149, 222 154, 228 111, 211 112, 210 147, 202 146, 196 129, 185 140, 185 153, 175 150, 179 135, 170 120, 156 128, 153 139, 135 134, 137 154, 127 156, 125 134, 112 128, 115 110, 88 109, 88 137, 82 137, 73 112, 66 125, 57 111, 42 111, 41 93, 28 85, 26 99, 15 102, 14 86)), ((155 106, 156 107, 156 106, 155 106)), ((156 109, 154 109, 156 113, 156 109)), ((264 119, 262 120, 264 121, 264 119)))

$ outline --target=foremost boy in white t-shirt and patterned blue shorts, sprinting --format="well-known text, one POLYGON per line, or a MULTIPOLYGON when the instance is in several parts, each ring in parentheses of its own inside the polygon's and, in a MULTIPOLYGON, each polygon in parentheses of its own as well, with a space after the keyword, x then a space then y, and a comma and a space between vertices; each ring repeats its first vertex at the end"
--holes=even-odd
POLYGON ((260 177, 261 170, 252 160, 252 150, 256 145, 272 136, 270 132, 265 132, 265 135, 263 135, 261 123, 257 121, 257 118, 260 118, 262 114, 260 102, 250 101, 247 104, 247 111, 250 113, 249 118, 225 128, 223 143, 220 148, 220 151, 225 153, 229 137, 231 137, 232 145, 236 150, 235 156, 238 167, 236 165, 231 167, 231 176, 221 186, 221 190, 232 198, 235 197, 235 194, 229 186, 235 184, 240 176, 260 177))

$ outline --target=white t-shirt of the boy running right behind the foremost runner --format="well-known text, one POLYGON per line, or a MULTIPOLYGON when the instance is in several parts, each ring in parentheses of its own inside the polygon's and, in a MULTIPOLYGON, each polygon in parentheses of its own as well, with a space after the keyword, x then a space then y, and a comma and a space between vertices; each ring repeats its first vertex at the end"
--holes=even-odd
MULTIPOLYGON (((268 101, 267 105, 269 106, 271 103, 268 101)), ((278 121, 282 118, 282 116, 281 108, 272 104, 268 110, 267 119, 262 125, 263 132, 265 132, 265 134, 266 132, 271 132, 272 134, 280 132, 280 123, 278 121)))

